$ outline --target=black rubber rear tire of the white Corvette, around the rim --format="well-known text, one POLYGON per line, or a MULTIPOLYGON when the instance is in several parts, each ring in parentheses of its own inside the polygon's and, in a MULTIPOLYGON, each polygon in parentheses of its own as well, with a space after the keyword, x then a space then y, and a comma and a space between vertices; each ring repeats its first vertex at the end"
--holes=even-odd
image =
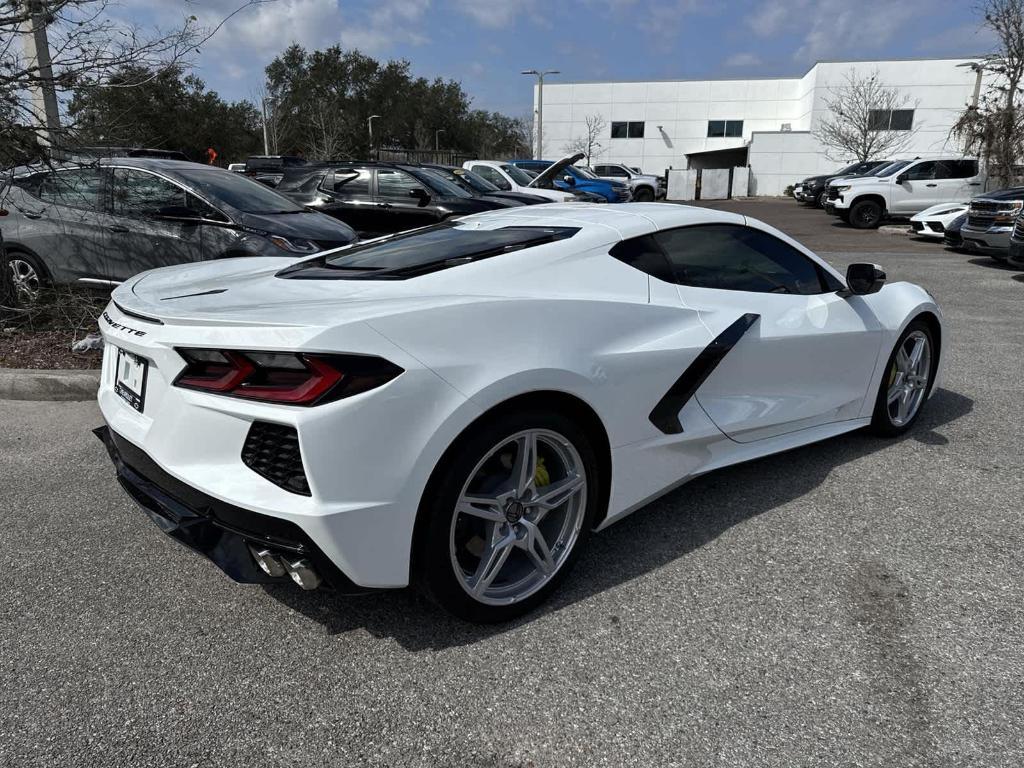
POLYGON ((529 612, 544 602, 568 575, 590 536, 597 514, 600 487, 598 471, 597 457, 586 432, 561 414, 531 408, 499 414, 478 422, 445 455, 434 471, 420 503, 416 551, 413 553, 416 586, 433 602, 468 622, 495 624, 529 612), (586 473, 582 526, 554 574, 537 591, 512 604, 484 603, 470 596, 463 586, 463 578, 456 573, 452 555, 456 506, 463 487, 471 479, 470 473, 489 452, 506 438, 523 430, 535 429, 550 430, 561 435, 571 443, 582 460, 586 473))

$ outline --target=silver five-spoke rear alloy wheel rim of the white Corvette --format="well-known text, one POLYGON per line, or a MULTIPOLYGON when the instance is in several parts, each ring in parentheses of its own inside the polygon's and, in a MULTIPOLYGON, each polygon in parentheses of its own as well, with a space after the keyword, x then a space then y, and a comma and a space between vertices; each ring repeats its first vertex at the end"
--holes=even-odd
POLYGON ((517 432, 469 474, 452 516, 452 567, 474 600, 509 605, 548 584, 568 558, 587 510, 579 452, 548 429, 517 432))

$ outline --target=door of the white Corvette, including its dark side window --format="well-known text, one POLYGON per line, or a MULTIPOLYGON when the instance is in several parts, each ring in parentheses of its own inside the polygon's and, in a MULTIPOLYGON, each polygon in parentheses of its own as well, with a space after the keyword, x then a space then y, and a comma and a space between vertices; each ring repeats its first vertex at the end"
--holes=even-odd
POLYGON ((708 224, 656 233, 680 302, 724 357, 695 397, 725 434, 751 442, 857 418, 869 396, 881 324, 859 296, 775 234, 708 224), (730 346, 731 345, 731 346, 730 346))

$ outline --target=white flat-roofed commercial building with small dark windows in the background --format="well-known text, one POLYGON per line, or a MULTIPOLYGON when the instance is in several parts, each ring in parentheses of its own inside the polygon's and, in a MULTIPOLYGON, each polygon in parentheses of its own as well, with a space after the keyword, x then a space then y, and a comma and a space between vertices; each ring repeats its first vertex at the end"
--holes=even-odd
MULTIPOLYGON (((543 157, 565 154, 586 134, 588 117, 606 122, 591 163, 615 162, 662 174, 669 168, 749 166, 751 195, 781 195, 795 181, 853 160, 833 158, 811 131, 828 115, 829 91, 878 72, 880 82, 909 97, 889 116, 912 128, 901 158, 955 155, 949 130, 971 102, 971 59, 819 61, 795 78, 667 80, 544 85, 543 157)), ((537 88, 535 86, 535 106, 537 88)))

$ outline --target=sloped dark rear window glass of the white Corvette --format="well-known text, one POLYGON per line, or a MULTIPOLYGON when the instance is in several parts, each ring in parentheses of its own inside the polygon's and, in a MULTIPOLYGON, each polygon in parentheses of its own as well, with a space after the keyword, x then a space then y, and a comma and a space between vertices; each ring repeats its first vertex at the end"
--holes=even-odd
POLYGON ((578 231, 578 227, 569 226, 477 229, 445 222, 346 248, 300 262, 278 274, 297 280, 408 278, 565 240, 578 231))

